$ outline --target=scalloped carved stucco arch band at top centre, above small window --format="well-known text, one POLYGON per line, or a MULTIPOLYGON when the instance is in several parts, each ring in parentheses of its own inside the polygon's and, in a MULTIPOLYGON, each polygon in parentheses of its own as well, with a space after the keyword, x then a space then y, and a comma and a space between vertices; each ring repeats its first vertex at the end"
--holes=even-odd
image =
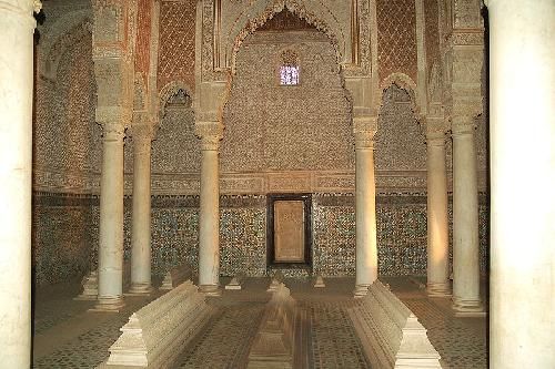
POLYGON ((254 33, 276 13, 287 8, 292 13, 314 25, 330 39, 341 65, 346 52, 345 32, 337 18, 322 0, 258 0, 245 8, 224 35, 225 62, 235 73, 235 59, 244 39, 254 33), (256 16, 251 17, 254 13, 256 16))

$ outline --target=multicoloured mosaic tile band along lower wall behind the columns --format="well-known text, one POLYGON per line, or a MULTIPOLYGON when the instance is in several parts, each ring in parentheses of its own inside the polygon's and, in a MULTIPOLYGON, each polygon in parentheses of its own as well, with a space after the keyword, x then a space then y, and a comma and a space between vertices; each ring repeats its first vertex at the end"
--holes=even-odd
MULTIPOLYGON (((450 201, 451 203, 451 201, 450 201)), ((124 201, 124 258, 131 258, 131 201, 124 201)), ((287 277, 352 276, 355 271, 355 214, 352 194, 313 195, 313 270, 283 269, 287 277)), ((426 197, 376 197, 379 269, 383 276, 426 274, 426 197)), ((488 267, 488 207, 480 196, 481 271, 488 267)), ((152 275, 199 263, 199 197, 158 196, 152 201, 152 275)), ((220 266, 222 276, 266 270, 265 196, 222 196, 220 266)), ((448 208, 452 219, 452 206, 448 208)), ((99 206, 94 196, 38 195, 33 215, 36 280, 80 279, 98 260, 99 206)), ((452 228, 450 238, 452 239, 452 228)), ((452 254, 452 249, 450 249, 452 254)))

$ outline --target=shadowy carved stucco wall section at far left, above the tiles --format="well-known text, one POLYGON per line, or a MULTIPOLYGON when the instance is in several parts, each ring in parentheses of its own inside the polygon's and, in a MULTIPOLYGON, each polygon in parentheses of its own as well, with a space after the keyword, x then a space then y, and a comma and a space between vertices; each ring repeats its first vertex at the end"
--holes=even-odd
MULTIPOLYGON (((33 165, 69 174, 100 171, 101 129, 94 122, 92 35, 83 34, 65 50, 57 83, 37 81, 33 165)), ((57 183, 51 185, 56 187, 57 183)))

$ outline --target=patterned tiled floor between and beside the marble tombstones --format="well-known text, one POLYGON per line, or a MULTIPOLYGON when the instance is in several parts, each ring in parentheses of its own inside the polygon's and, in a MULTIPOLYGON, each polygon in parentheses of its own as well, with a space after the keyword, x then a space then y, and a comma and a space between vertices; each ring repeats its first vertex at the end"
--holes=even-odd
MULTIPOLYGON (((349 307, 357 304, 352 298, 354 280, 325 281, 325 288, 316 289, 305 280, 286 280, 293 298, 310 317, 311 367, 369 368, 346 314, 349 307)), ((447 299, 428 299, 406 278, 386 281, 428 329, 444 368, 487 368, 486 319, 453 317, 447 299)), ((268 283, 265 278, 250 278, 242 290, 224 290, 221 298, 210 298, 216 314, 183 348, 175 368, 244 368, 270 297, 265 291, 268 283)), ((87 311, 93 303, 74 301, 72 296, 71 288, 38 296, 33 368, 94 368, 108 357, 108 348, 131 312, 155 297, 127 297, 123 311, 100 314, 87 311)))

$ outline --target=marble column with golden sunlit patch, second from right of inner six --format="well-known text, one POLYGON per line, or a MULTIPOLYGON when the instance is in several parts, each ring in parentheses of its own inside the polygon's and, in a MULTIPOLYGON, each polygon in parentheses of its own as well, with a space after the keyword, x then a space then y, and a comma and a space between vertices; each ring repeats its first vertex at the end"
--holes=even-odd
MULTIPOLYGON (((443 119, 441 119, 443 121, 443 119)), ((426 134, 427 147, 427 284, 431 296, 450 296, 450 240, 445 132, 426 134)))

